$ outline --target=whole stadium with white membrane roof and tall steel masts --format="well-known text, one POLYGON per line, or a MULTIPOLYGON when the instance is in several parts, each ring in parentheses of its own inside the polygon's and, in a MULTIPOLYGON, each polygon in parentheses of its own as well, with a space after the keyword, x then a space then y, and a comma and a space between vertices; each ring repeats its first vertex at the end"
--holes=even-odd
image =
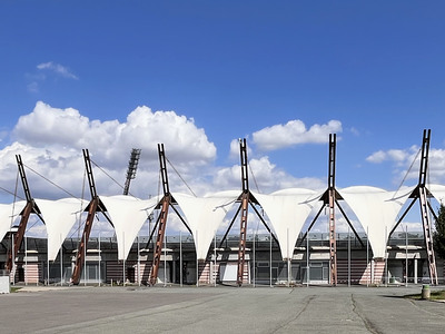
POLYGON ((83 150, 90 200, 33 198, 18 155, 26 198, 0 206, 0 265, 12 284, 26 285, 437 285, 444 259, 434 253, 434 203, 445 198, 445 186, 427 180, 429 137, 425 130, 418 183, 396 191, 337 188, 336 135, 329 136, 325 189, 271 194, 249 187, 246 139, 239 141, 241 189, 202 197, 170 191, 164 145, 162 194, 149 199, 128 195, 138 149, 123 195, 115 196, 97 193, 83 150), (414 210, 422 230, 404 225, 414 210), (172 216, 188 233, 167 235, 172 216), (27 237, 32 219, 44 224, 46 238, 27 237), (98 219, 109 223, 111 235, 91 234, 98 219))

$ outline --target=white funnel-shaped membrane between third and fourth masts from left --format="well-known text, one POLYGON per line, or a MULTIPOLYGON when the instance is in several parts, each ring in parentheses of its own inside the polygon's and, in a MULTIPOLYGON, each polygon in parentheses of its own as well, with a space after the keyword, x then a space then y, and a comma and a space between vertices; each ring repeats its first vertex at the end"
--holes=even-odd
POLYGON ((239 190, 220 191, 205 197, 172 194, 194 235, 198 259, 207 258, 211 239, 215 237, 218 226, 239 195, 239 190))

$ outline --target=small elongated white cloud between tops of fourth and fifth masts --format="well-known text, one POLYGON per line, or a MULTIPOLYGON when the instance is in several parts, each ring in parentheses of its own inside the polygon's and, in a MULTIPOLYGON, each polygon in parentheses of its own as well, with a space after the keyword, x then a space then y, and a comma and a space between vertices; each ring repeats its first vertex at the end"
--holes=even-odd
POLYGON ((260 150, 275 150, 298 144, 327 143, 329 134, 342 132, 342 122, 329 120, 324 125, 313 125, 307 129, 299 120, 289 120, 285 125, 275 125, 253 134, 253 140, 260 150))

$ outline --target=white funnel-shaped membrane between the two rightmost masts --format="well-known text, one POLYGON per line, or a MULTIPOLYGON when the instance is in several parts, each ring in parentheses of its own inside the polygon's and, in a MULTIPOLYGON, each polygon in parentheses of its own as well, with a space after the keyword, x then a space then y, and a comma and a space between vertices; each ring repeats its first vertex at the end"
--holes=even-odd
POLYGON ((338 190, 367 232, 375 258, 385 257, 388 235, 412 191, 413 188, 398 196, 395 191, 369 186, 338 190))

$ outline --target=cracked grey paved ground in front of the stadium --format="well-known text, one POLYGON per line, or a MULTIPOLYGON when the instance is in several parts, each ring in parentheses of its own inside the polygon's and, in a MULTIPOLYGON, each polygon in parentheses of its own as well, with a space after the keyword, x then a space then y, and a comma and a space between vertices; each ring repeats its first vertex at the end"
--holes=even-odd
POLYGON ((24 287, 1 333, 444 333, 445 303, 408 287, 24 287))

